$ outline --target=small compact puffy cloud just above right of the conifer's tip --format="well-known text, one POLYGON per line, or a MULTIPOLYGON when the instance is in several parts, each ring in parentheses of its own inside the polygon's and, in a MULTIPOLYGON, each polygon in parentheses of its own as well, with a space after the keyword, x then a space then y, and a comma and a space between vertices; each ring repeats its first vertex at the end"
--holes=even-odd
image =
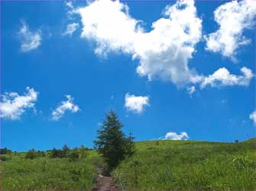
POLYGON ((134 96, 125 94, 125 108, 134 111, 135 113, 142 113, 144 107, 149 106, 149 98, 147 96, 134 96))

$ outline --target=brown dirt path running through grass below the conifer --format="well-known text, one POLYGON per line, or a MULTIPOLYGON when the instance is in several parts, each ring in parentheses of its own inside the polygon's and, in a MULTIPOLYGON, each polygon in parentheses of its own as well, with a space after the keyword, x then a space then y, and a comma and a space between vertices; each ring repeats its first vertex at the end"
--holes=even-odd
POLYGON ((102 170, 102 167, 98 168, 98 177, 96 179, 96 186, 93 191, 121 191, 115 183, 113 177, 105 176, 102 170))

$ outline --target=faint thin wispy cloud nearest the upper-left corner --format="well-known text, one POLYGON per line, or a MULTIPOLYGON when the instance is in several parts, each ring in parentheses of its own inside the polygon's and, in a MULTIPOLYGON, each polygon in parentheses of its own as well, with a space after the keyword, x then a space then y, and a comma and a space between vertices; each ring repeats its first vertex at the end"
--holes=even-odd
POLYGON ((18 32, 18 36, 21 40, 21 52, 27 53, 33 49, 37 49, 41 45, 42 37, 41 30, 31 32, 28 25, 22 22, 22 26, 18 32))

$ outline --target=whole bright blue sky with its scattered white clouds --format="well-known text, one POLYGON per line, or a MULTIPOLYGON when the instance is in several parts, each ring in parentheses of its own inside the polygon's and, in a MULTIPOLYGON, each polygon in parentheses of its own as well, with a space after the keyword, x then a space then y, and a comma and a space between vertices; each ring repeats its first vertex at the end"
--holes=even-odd
POLYGON ((2 2, 1 147, 254 137, 255 2, 2 2))

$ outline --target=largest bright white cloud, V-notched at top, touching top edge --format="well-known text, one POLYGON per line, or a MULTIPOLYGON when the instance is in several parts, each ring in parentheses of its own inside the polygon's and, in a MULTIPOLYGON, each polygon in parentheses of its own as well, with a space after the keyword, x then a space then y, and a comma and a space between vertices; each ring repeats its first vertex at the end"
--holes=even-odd
POLYGON ((78 10, 83 23, 81 37, 96 41, 96 54, 127 53, 139 60, 138 74, 149 79, 159 77, 174 84, 196 79, 188 60, 201 39, 202 21, 193 1, 167 6, 164 18, 155 21, 150 32, 145 32, 141 21, 128 14, 128 6, 118 1, 99 0, 78 10))

